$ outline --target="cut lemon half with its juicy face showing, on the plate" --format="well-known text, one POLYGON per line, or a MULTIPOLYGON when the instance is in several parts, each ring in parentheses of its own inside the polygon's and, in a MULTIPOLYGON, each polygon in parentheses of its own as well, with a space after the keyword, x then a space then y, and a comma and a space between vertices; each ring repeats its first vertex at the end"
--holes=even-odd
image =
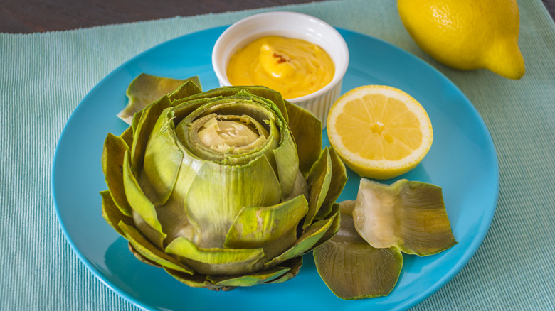
POLYGON ((357 87, 339 97, 327 119, 329 143, 362 177, 393 178, 430 150, 428 113, 406 92, 384 85, 357 87))

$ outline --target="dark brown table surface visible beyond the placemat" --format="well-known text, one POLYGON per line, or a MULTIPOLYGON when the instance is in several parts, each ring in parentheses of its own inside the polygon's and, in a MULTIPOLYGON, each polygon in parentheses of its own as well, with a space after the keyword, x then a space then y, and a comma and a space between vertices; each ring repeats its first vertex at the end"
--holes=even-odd
MULTIPOLYGON (((312 1, 314 0, 2 0, 0 32, 63 31, 312 1)), ((542 1, 555 19, 555 0, 542 1)))

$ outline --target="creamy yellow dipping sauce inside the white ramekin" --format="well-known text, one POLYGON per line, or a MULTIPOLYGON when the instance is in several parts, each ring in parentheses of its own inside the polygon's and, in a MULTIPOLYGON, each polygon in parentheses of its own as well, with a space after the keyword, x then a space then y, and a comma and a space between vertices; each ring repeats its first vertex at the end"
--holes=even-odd
POLYGON ((241 48, 229 60, 232 85, 263 85, 285 99, 302 97, 326 86, 334 77, 332 58, 305 40, 265 36, 241 48))

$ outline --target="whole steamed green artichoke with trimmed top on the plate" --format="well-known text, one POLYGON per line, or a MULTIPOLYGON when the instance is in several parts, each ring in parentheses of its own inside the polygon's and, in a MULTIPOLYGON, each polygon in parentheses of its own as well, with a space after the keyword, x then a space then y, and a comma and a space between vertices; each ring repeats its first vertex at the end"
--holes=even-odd
POLYGON ((294 277, 339 229, 347 180, 310 112, 265 87, 192 81, 109 133, 102 169, 102 214, 132 253, 212 290, 294 277))

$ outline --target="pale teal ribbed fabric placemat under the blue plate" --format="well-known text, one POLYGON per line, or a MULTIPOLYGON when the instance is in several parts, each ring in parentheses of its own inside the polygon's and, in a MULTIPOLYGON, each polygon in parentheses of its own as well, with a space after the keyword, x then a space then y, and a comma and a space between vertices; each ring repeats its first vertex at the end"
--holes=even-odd
MULTIPOLYGON (((273 9, 308 13, 423 58, 466 94, 492 133, 501 177, 492 227, 470 263, 413 309, 555 310, 555 25, 541 1, 519 1, 527 72, 517 81, 435 62, 406 33, 396 1, 273 9)), ((65 241, 51 196, 58 137, 85 94, 129 58, 260 11, 268 9, 0 34, 0 310, 137 310, 65 241)))

